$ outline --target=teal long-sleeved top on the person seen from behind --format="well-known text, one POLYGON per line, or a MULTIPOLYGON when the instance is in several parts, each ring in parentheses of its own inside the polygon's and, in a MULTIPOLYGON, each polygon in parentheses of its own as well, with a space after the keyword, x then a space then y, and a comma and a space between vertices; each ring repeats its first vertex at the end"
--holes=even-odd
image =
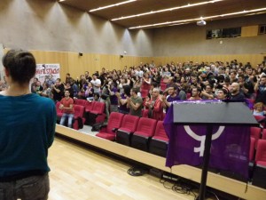
POLYGON ((49 172, 54 139, 54 102, 37 94, 0 95, 0 179, 32 171, 49 172))

